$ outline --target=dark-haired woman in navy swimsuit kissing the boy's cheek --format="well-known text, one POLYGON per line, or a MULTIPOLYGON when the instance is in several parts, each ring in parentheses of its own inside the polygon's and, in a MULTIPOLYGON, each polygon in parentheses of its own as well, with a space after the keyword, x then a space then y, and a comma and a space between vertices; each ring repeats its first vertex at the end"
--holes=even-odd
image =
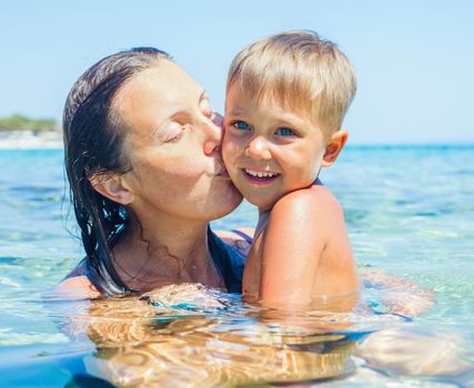
POLYGON ((81 75, 63 129, 87 256, 59 292, 97 297, 184 282, 241 292, 245 242, 229 234, 232 247, 209 227, 242 201, 222 163, 219 122, 202 88, 157 49, 119 52, 81 75))

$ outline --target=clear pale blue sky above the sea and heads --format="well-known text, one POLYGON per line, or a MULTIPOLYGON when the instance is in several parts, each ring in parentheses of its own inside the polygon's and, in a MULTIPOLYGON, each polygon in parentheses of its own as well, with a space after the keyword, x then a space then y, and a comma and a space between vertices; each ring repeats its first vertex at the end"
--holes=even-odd
POLYGON ((222 111, 233 57, 294 29, 336 42, 356 70, 349 144, 474 143, 470 0, 1 0, 0 118, 60 120, 81 73, 139 45, 169 52, 222 111))

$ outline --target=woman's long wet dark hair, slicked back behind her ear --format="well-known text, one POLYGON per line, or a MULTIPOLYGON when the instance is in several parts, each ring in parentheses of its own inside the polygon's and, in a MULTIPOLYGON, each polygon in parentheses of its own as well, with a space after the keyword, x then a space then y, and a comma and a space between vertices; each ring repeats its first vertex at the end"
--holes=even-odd
POLYGON ((127 292, 114 266, 112 247, 128 223, 124 206, 98 193, 92 176, 131 170, 123 154, 124 129, 112 102, 121 86, 170 55, 134 48, 92 65, 72 86, 64 106, 64 163, 71 204, 81 229, 85 266, 92 283, 107 294, 127 292))

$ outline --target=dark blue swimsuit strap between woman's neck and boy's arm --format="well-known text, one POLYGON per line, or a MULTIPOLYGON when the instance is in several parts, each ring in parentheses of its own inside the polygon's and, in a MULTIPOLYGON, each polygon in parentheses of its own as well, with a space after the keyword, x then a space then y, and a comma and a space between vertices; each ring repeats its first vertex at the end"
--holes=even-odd
POLYGON ((208 245, 212 261, 221 274, 228 292, 241 294, 245 256, 225 244, 210 227, 208 227, 208 245))

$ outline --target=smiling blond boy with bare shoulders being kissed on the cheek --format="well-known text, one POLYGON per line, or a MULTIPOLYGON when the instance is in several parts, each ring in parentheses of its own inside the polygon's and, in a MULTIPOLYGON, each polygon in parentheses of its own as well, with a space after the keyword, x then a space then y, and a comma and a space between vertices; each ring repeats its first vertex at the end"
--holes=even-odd
POLYGON ((243 294, 266 306, 357 295, 341 206, 317 180, 347 140, 341 124, 354 93, 347 58, 311 31, 268 37, 232 62, 222 152, 259 207, 243 294))

